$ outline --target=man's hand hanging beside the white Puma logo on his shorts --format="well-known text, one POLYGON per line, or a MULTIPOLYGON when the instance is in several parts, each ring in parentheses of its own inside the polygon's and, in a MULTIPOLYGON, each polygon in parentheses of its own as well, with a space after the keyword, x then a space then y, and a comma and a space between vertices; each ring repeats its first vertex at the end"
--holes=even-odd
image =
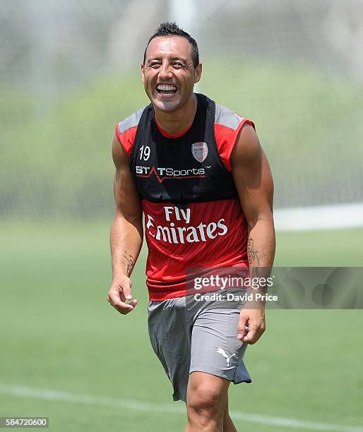
POLYGON ((261 306, 241 310, 237 327, 237 339, 247 344, 255 344, 265 330, 265 308, 261 306), (248 329, 245 328, 245 325, 248 329))

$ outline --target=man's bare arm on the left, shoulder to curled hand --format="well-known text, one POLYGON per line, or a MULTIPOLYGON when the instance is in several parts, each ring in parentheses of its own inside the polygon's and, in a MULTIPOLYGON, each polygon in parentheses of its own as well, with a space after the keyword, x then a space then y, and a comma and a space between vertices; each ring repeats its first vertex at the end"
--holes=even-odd
POLYGON ((112 140, 114 200, 116 211, 111 227, 112 285, 107 301, 126 314, 137 304, 132 299, 130 276, 143 244, 141 200, 129 168, 129 157, 117 137, 112 140), (130 301, 130 303, 126 303, 130 301))

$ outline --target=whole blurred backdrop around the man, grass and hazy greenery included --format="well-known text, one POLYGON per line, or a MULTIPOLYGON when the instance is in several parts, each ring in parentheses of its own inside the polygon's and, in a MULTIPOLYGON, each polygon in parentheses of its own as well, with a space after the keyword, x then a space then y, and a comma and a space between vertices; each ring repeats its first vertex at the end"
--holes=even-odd
MULTIPOLYGON (((149 102, 140 64, 165 20, 198 42, 196 91, 256 123, 276 265, 362 266, 362 0, 3 0, 0 416, 48 415, 54 431, 184 426, 148 342, 145 251, 138 308, 105 302, 110 143, 149 102)), ((361 325, 361 311, 268 311, 246 354, 254 383, 232 389, 237 428, 362 431, 361 325)))

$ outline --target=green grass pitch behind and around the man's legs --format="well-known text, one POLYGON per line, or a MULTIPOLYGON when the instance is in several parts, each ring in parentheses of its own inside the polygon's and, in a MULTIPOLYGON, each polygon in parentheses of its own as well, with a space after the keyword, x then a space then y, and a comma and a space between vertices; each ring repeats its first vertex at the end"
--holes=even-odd
MULTIPOLYGON (((172 402, 148 341, 144 252, 133 275, 136 310, 121 316, 105 301, 108 230, 0 225, 0 416, 49 416, 54 432, 183 430, 184 404, 172 402), (8 395, 4 385, 129 406, 8 395)), ((360 266, 362 244, 362 229, 280 233, 275 263, 360 266)), ((232 411, 363 426, 362 323, 360 310, 267 311, 267 331, 245 356, 254 383, 232 387, 232 411)), ((238 418, 239 431, 299 430, 238 418)))

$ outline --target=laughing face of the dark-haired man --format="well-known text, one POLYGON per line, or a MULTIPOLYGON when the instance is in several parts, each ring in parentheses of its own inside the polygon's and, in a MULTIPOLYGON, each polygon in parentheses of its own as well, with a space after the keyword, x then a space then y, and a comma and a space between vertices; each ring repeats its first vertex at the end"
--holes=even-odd
POLYGON ((191 44, 184 37, 159 36, 146 50, 141 78, 154 107, 173 112, 191 100, 194 84, 201 79, 201 70, 201 64, 194 69, 191 44))

